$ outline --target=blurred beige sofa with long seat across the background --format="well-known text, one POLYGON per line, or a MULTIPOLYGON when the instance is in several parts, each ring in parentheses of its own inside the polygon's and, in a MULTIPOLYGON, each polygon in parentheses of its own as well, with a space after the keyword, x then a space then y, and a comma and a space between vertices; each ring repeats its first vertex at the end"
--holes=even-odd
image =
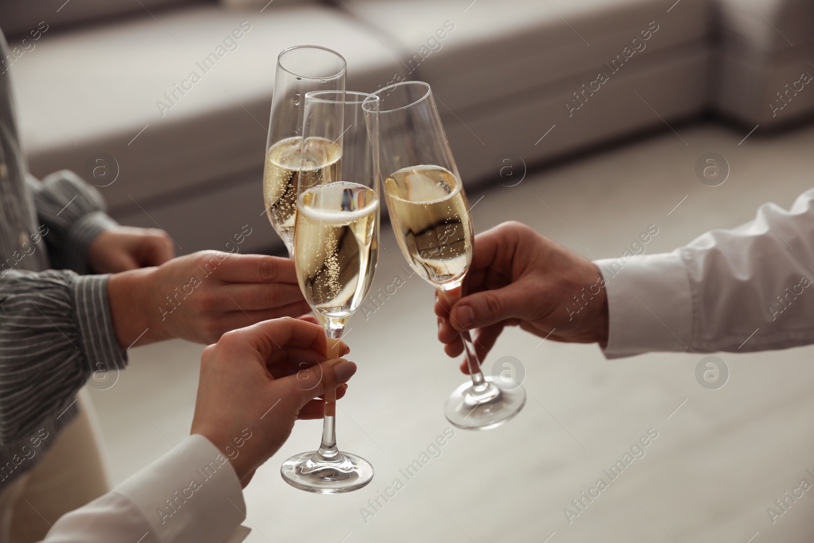
POLYGON ((33 0, 0 28, 31 171, 80 173, 181 253, 246 225, 243 251, 282 247, 260 178, 291 45, 338 50, 348 90, 430 83, 467 185, 710 112, 744 134, 814 112, 803 0, 33 0))

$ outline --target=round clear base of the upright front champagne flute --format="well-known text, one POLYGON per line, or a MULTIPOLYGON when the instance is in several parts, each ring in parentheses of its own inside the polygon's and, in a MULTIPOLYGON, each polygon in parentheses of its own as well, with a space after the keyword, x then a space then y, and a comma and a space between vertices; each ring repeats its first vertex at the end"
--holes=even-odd
POLYGON ((320 494, 352 492, 373 480, 370 462, 351 453, 328 461, 317 451, 295 454, 280 466, 282 479, 294 488, 320 494))

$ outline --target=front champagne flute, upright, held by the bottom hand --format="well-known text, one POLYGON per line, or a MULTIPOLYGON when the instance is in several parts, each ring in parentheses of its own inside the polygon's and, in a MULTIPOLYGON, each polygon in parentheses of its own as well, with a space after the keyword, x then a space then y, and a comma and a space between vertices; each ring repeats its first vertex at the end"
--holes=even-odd
MULTIPOLYGON (((329 339, 342 336, 361 306, 379 259, 378 101, 357 92, 305 94, 300 167, 309 175, 300 173, 297 187, 294 264, 303 296, 329 339)), ((319 449, 283 462, 288 484, 333 494, 373 479, 370 462, 336 447, 335 402, 336 392, 327 392, 319 449)))

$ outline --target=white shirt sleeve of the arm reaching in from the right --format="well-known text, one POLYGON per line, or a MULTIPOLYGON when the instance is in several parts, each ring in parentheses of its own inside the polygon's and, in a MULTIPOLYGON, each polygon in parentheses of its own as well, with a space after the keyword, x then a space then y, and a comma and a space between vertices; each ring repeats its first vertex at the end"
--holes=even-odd
POLYGON ((608 358, 814 343, 814 189, 789 211, 764 204, 753 221, 671 253, 596 264, 608 300, 608 358))

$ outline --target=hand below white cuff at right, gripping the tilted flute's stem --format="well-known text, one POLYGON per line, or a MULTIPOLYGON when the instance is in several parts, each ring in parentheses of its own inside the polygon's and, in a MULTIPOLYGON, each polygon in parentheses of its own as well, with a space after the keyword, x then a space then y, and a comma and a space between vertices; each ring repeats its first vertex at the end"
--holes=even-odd
MULTIPOLYGON (((554 341, 604 344, 604 286, 593 262, 528 226, 504 222, 475 237, 464 296, 457 301, 453 296, 450 304, 436 295, 438 339, 450 357, 457 357, 463 352, 458 332, 477 328, 474 342, 480 360, 504 326, 520 326, 554 341)), ((466 361, 461 369, 468 373, 466 361)))

